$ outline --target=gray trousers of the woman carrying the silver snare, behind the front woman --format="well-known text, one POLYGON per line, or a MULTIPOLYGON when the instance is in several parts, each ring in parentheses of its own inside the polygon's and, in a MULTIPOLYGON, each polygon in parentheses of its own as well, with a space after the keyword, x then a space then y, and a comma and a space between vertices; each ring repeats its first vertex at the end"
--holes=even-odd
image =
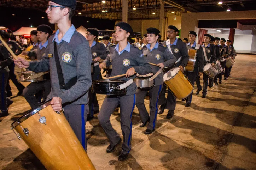
POLYGON ((157 119, 157 111, 158 111, 158 97, 162 90, 162 84, 154 86, 150 90, 140 90, 137 89, 136 91, 136 107, 139 110, 140 114, 140 120, 142 123, 145 123, 147 120, 150 119, 149 125, 147 126, 147 129, 153 130, 156 126, 156 119, 157 119), (147 92, 149 91, 149 111, 150 114, 147 112, 147 109, 144 104, 144 98, 147 95, 147 92))

